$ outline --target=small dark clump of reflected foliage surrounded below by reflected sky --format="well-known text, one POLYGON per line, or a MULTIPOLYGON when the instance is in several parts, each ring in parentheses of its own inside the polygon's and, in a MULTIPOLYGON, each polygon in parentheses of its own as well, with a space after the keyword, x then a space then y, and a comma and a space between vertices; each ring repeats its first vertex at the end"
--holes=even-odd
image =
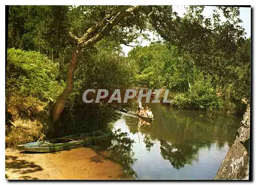
POLYGON ((174 144, 165 140, 161 140, 160 144, 162 157, 169 160, 176 169, 181 169, 186 164, 191 165, 193 160, 197 160, 199 148, 191 144, 174 144))

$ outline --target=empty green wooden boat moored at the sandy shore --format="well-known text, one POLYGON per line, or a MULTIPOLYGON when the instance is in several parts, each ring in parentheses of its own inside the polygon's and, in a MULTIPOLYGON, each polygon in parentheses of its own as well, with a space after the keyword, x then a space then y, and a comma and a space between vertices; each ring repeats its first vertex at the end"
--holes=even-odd
POLYGON ((48 141, 39 141, 18 145, 17 149, 36 153, 57 152, 104 141, 108 139, 111 134, 112 133, 107 133, 99 136, 64 136, 53 138, 48 141))

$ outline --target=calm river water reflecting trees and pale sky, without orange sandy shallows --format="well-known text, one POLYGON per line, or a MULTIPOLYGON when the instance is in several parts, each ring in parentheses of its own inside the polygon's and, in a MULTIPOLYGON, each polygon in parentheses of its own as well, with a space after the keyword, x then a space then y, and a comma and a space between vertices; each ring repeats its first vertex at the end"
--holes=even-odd
POLYGON ((147 105, 153 124, 139 127, 139 119, 125 113, 114 123, 127 135, 112 141, 111 151, 127 171, 136 179, 213 179, 242 118, 147 105))

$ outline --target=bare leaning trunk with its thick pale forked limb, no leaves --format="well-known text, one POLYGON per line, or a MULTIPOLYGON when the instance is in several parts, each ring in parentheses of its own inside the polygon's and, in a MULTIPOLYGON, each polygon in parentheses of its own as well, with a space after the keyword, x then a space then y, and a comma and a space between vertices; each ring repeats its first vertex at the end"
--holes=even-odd
MULTIPOLYGON (((86 46, 88 47, 90 45, 95 44, 96 42, 101 40, 105 35, 107 35, 111 31, 111 29, 121 21, 123 17, 134 16, 134 14, 140 11, 141 9, 142 9, 142 6, 133 6, 127 9, 121 9, 121 11, 117 13, 114 11, 115 13, 106 16, 99 22, 96 22, 96 24, 91 28, 89 28, 81 38, 76 37, 71 32, 70 32, 70 36, 76 40, 76 43, 78 44, 78 47, 80 49, 81 47, 86 47, 86 46)), ((59 120, 60 113, 65 107, 65 104, 73 89, 76 57, 77 57, 76 48, 74 48, 74 51, 72 53, 72 59, 69 65, 66 88, 64 89, 62 94, 57 98, 52 111, 52 122, 54 124, 55 132, 58 129, 57 122, 59 120)))

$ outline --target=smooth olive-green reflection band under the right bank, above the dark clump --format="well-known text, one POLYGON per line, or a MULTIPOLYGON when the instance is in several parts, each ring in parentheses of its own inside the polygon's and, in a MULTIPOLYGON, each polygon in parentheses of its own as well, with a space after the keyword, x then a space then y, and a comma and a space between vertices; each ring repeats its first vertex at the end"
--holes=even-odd
POLYGON ((172 142, 202 142, 206 146, 218 143, 219 149, 224 143, 232 143, 240 118, 226 114, 202 111, 177 110, 169 106, 154 104, 155 120, 149 132, 154 139, 164 138, 172 142), (158 109, 163 109, 157 112, 158 109))

